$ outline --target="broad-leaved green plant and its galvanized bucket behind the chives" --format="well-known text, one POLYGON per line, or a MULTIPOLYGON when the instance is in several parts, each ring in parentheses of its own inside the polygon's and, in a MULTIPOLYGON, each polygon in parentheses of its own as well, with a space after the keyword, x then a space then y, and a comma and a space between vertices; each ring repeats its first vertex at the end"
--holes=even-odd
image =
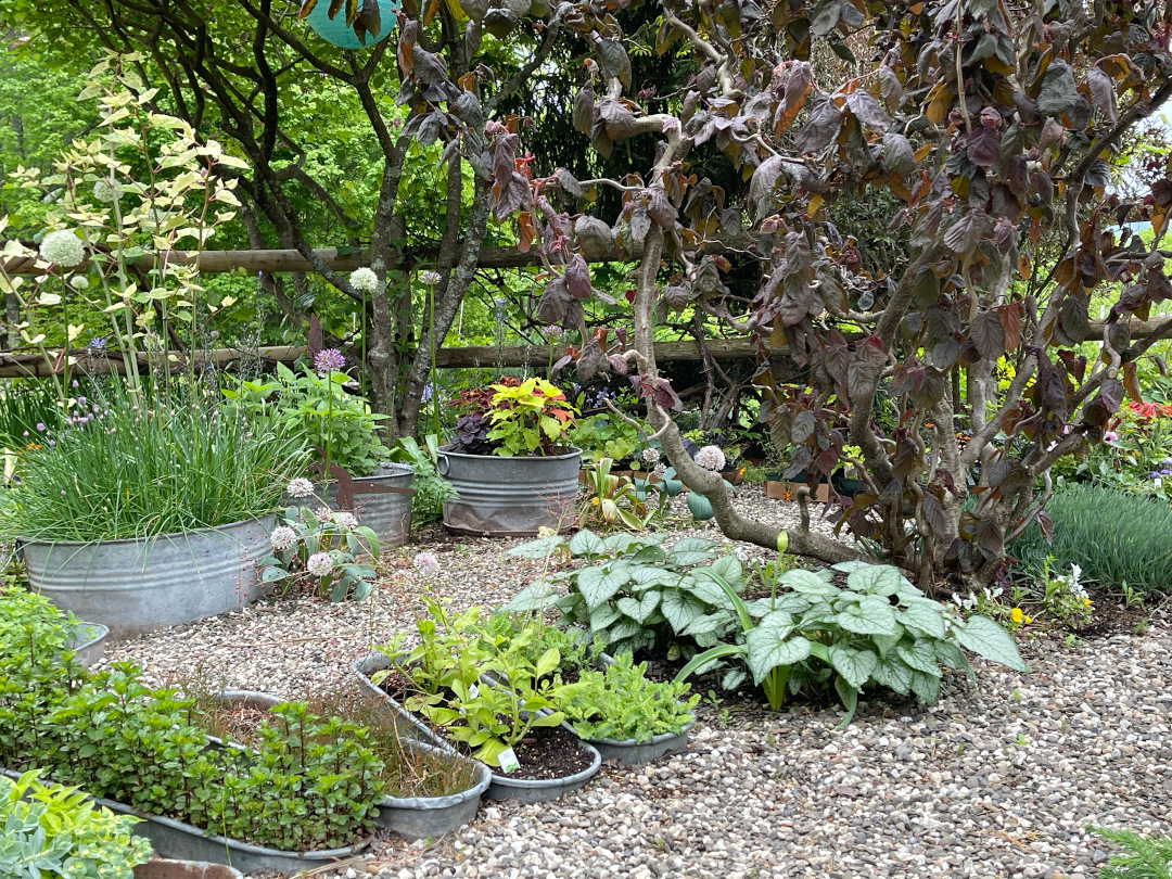
POLYGON ((273 380, 241 381, 224 393, 314 449, 322 472, 341 468, 345 475, 325 489, 329 506, 355 513, 381 546, 402 546, 411 533, 415 471, 391 462, 393 452, 377 434, 379 421, 387 416, 346 389, 350 377, 345 367, 341 352, 326 348, 299 373, 278 363, 273 380))

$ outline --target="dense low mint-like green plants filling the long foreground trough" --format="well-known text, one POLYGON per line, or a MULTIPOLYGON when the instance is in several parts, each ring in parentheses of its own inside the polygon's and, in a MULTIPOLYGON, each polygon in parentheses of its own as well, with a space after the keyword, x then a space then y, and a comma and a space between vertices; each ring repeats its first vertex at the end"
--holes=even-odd
MULTIPOLYGON (((63 618, 56 625, 47 643, 68 632, 63 618)), ((146 687, 129 663, 89 674, 59 648, 0 643, 8 653, 27 659, 0 675, 2 766, 289 851, 350 845, 373 826, 383 765, 354 723, 288 703, 260 724, 252 750, 211 748, 192 700, 146 687)))

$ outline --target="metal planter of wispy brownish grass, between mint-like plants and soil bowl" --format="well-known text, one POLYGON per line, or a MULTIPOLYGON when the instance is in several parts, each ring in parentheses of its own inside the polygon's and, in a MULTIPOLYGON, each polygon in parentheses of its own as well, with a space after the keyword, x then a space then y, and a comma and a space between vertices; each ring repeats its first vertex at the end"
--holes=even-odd
MULTIPOLYGON (((373 683, 370 687, 377 689, 373 683)), ((362 689, 367 690, 366 687, 362 689)), ((383 696, 387 695, 382 690, 379 691, 383 696)), ((279 696, 254 690, 224 690, 220 694, 220 700, 266 710, 285 702, 279 696)), ((212 738, 218 744, 223 744, 218 738, 212 738)), ((441 752, 451 756, 450 749, 438 748, 414 738, 406 738, 403 744, 409 750, 441 752)), ((384 796, 379 803, 379 817, 375 818, 375 826, 389 830, 404 839, 438 839, 444 833, 459 830, 476 817, 476 812, 481 808, 481 797, 491 783, 492 774, 489 768, 483 763, 477 763, 473 784, 466 790, 443 797, 384 796)))

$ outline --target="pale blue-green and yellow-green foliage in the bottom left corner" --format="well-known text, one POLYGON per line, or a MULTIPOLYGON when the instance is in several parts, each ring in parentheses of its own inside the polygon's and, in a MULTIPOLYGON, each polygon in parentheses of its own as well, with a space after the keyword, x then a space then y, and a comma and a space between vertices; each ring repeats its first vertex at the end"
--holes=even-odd
POLYGON ((76 788, 42 784, 30 770, 0 776, 0 874, 13 879, 131 879, 151 856, 130 816, 95 808, 76 788))

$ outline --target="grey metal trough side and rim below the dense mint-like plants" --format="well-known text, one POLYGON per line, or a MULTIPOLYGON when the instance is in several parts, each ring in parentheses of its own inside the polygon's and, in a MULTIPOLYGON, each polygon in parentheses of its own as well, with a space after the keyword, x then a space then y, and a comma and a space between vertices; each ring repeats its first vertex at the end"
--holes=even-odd
POLYGON ((364 839, 345 849, 285 852, 279 849, 265 849, 260 845, 241 843, 238 839, 205 833, 190 824, 138 812, 113 799, 96 799, 95 802, 117 815, 132 815, 136 818, 142 818, 143 820, 135 825, 135 836, 146 837, 155 851, 165 858, 227 864, 243 873, 275 870, 278 873, 287 875, 300 873, 302 870, 316 870, 361 854, 370 845, 370 840, 364 839))

